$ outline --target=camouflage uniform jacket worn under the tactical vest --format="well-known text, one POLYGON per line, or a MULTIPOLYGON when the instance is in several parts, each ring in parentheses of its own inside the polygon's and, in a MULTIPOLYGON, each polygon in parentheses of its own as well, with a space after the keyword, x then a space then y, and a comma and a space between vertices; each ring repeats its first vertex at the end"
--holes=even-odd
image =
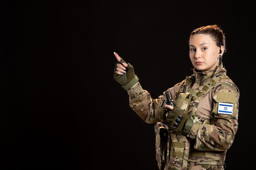
MULTIPOLYGON (((189 89, 199 89, 206 82, 220 75, 226 75, 226 73, 227 71, 222 63, 214 71, 197 72, 194 69, 193 75, 186 77, 182 82, 168 89, 169 95, 175 101, 177 92, 181 91, 185 82, 189 82, 186 87, 188 91, 189 89)), ((166 121, 165 92, 157 99, 152 99, 150 93, 144 90, 139 82, 127 92, 130 108, 143 121, 148 124, 166 121)), ((202 96, 197 104, 193 104, 193 102, 190 104, 193 106, 189 107, 190 110, 187 113, 191 114, 192 110, 194 110, 193 118, 196 119, 189 134, 186 136, 186 139, 190 142, 190 152, 204 152, 204 155, 211 155, 211 152, 214 152, 215 155, 222 154, 222 158, 218 158, 220 159, 219 162, 213 159, 215 161, 209 161, 208 164, 224 164, 225 152, 232 145, 238 128, 239 95, 240 92, 237 86, 230 80, 212 88, 202 96), (221 100, 218 99, 218 96, 222 96, 221 100), (220 102, 233 104, 232 115, 218 113, 218 103, 220 102)), ((206 161, 206 159, 199 159, 196 155, 199 157, 201 154, 196 153, 191 156, 191 153, 189 153, 188 161, 202 163, 206 161)))

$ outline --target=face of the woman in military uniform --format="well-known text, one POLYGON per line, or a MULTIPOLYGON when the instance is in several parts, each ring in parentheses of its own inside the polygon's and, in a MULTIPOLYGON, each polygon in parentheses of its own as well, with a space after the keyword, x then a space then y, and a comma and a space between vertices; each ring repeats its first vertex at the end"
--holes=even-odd
POLYGON ((219 65, 220 47, 205 34, 195 34, 189 40, 189 57, 198 71, 214 70, 219 65))

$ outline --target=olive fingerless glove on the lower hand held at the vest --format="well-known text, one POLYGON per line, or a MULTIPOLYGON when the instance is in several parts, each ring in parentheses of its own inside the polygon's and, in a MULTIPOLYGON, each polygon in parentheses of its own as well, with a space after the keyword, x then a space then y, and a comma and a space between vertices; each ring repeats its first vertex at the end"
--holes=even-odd
POLYGON ((188 135, 189 130, 193 126, 193 120, 188 118, 189 115, 185 114, 182 110, 174 107, 170 110, 166 118, 166 125, 169 130, 173 132, 181 132, 183 135, 188 135))

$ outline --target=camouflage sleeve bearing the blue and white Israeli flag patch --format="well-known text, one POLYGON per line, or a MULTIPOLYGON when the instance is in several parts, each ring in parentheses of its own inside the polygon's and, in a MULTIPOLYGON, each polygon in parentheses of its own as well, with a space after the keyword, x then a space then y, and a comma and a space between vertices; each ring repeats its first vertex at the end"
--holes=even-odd
POLYGON ((225 82, 216 88, 211 120, 194 124, 189 134, 195 137, 195 149, 224 151, 230 148, 238 129, 239 96, 234 83, 225 82))

